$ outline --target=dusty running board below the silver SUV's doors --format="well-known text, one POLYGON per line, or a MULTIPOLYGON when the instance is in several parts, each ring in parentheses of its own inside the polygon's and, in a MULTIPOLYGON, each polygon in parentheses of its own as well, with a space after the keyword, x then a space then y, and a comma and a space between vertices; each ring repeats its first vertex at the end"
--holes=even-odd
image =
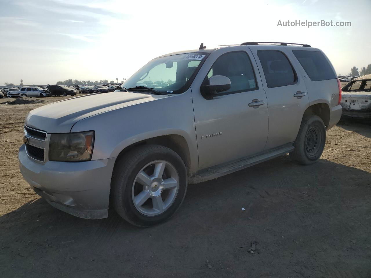
POLYGON ((286 153, 292 152, 293 149, 294 146, 292 146, 292 143, 289 143, 278 149, 273 149, 269 152, 265 152, 256 156, 234 160, 233 162, 228 164, 209 167, 208 169, 202 170, 201 172, 198 172, 196 175, 192 176, 188 180, 188 183, 200 183, 209 181, 210 179, 216 179, 221 176, 228 175, 230 173, 253 166, 260 162, 285 155, 286 153))

